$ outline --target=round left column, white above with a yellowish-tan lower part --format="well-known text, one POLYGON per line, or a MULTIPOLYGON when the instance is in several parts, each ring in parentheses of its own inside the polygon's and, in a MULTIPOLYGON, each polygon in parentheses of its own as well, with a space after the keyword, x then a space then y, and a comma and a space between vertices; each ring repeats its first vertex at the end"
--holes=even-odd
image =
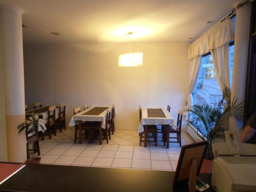
POLYGON ((18 125, 25 121, 22 13, 19 8, 1 5, 4 63, 5 106, 8 161, 24 162, 25 131, 18 135, 18 125))

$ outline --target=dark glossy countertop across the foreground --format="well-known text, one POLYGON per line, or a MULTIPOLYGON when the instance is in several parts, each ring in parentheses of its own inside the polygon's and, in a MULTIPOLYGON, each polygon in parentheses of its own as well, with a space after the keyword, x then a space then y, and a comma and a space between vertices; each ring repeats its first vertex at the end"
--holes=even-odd
MULTIPOLYGON (((207 179, 209 174, 202 174, 207 179)), ((174 172, 122 168, 27 164, 0 185, 17 191, 189 191, 173 189, 174 172)), ((207 190, 210 191, 210 190, 207 190)))

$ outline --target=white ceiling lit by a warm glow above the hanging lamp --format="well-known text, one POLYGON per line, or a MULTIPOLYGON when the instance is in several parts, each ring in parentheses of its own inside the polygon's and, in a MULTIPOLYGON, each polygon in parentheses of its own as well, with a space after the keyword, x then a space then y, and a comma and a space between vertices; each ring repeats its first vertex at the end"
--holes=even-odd
POLYGON ((190 42, 237 0, 0 0, 24 10, 25 43, 190 42), (207 24, 206 22, 212 21, 207 24), (60 35, 50 34, 57 32, 60 35), (126 35, 135 32, 132 35, 126 35), (193 37, 193 39, 189 39, 193 37))

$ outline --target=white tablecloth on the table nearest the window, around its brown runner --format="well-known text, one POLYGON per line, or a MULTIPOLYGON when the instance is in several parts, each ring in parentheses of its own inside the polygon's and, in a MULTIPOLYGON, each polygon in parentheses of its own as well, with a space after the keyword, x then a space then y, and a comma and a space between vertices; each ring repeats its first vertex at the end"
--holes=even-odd
POLYGON ((141 116, 138 133, 142 133, 144 131, 143 125, 161 125, 161 124, 172 125, 174 123, 174 118, 172 114, 170 114, 166 109, 162 109, 162 110, 166 118, 147 117, 147 109, 142 109, 142 116, 141 116))

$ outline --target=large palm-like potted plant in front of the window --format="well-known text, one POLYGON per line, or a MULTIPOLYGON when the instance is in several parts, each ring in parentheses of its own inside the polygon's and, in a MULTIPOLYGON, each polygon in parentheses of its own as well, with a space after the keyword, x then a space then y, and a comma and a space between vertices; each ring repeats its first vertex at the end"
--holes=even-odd
POLYGON ((191 109, 189 123, 193 125, 202 140, 208 140, 209 145, 206 151, 206 159, 214 158, 212 153, 212 141, 215 138, 223 138, 224 131, 228 130, 229 117, 236 118, 237 122, 242 122, 243 106, 242 102, 237 104, 237 99, 231 99, 231 92, 228 88, 223 90, 222 99, 216 107, 207 103, 195 104, 191 109))

